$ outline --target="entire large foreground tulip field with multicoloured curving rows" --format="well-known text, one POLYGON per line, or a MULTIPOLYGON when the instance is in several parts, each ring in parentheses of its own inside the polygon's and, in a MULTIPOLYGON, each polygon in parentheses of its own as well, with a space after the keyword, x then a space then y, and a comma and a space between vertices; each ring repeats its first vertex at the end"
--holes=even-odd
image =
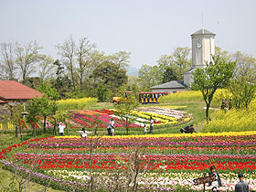
MULTIPOLYGON (((119 190, 198 191, 193 179, 215 165, 222 180, 220 191, 233 191, 243 173, 256 190, 256 132, 143 134, 120 136, 50 136, 13 144, 0 159, 34 180, 51 180, 52 187, 84 191, 90 186, 106 191, 119 181, 119 190), (134 171, 136 170, 136 172, 134 171), (111 185, 112 184, 112 185, 111 185), (126 185, 127 184, 127 185, 126 185)), ((210 187, 207 187, 210 189, 210 187)))

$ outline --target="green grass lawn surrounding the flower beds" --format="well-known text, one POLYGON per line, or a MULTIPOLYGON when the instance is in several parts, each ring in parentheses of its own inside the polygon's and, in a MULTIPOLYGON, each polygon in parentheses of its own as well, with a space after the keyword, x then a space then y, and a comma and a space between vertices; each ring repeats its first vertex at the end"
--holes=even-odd
MULTIPOLYGON (((181 125, 171 125, 168 127, 162 127, 162 128, 157 128, 155 126, 155 133, 179 133, 179 129, 180 127, 185 127, 187 124, 191 124, 194 123, 195 125, 203 123, 205 121, 205 110, 203 109, 205 107, 205 103, 204 102, 176 102, 176 103, 162 103, 162 104, 152 104, 152 106, 161 106, 161 105, 182 105, 182 106, 187 106, 186 108, 186 112, 187 113, 192 113, 193 114, 193 120, 189 123, 184 123, 181 125)), ((150 106, 149 104, 146 106, 150 106)), ((90 110, 100 110, 100 109, 110 109, 112 108, 112 103, 97 103, 96 106, 92 106, 91 108, 89 108, 90 110)), ((198 129, 198 127, 196 126, 196 129, 198 129)), ((106 130, 103 130, 102 133, 106 133, 106 130)), ((116 134, 124 134, 125 130, 123 131, 116 131, 116 134)), ((133 131, 131 130, 129 132, 130 134, 144 134, 143 129, 141 131, 133 131)), ((76 133, 73 130, 69 130, 69 134, 74 135, 77 134, 79 135, 79 133, 76 133)), ((37 137, 46 137, 51 135, 51 133, 37 133, 37 137)), ((28 140, 33 138, 31 133, 25 133, 24 134, 24 139, 28 140)), ((20 143, 20 138, 16 138, 15 137, 15 133, 3 133, 0 132, 0 149, 5 148, 11 144, 18 144, 20 143)), ((2 168, 0 168, 0 179, 3 181, 5 187, 10 183, 10 180, 12 178, 13 174, 9 171, 6 171, 2 168)), ((1 191, 2 187, 0 185, 0 191, 1 191)), ((38 185, 37 183, 34 182, 30 182, 27 190, 28 192, 34 192, 34 191, 43 191, 44 187, 38 185)), ((55 192, 55 191, 59 191, 59 190, 54 190, 52 188, 48 188, 47 190, 48 192, 55 192)))

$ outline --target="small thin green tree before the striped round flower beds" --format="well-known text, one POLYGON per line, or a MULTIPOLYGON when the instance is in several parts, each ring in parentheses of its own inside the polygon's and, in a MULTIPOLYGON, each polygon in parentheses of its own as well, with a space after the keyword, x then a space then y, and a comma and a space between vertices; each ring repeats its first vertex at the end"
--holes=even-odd
POLYGON ((133 118, 133 110, 139 106, 139 102, 135 97, 127 95, 123 97, 121 102, 115 105, 116 114, 125 121, 126 133, 129 133, 130 124, 135 120, 133 118))

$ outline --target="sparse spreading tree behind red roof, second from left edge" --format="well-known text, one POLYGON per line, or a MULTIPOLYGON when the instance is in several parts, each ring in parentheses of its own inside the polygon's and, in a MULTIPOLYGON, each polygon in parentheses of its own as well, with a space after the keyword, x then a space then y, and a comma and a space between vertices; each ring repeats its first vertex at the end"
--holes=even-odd
POLYGON ((43 55, 39 54, 40 47, 37 41, 30 41, 23 47, 16 42, 16 64, 21 71, 21 80, 26 81, 29 74, 35 72, 35 65, 43 59, 43 55))

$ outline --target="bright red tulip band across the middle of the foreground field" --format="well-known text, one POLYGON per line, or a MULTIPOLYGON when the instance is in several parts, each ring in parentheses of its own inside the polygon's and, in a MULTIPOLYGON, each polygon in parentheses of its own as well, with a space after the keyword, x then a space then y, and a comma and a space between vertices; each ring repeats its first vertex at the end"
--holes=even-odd
MULTIPOLYGON (((90 168, 91 158, 93 169, 123 169, 129 168, 119 165, 119 161, 128 162, 131 155, 116 154, 16 154, 14 159, 23 164, 39 165, 41 169, 83 169, 90 168)), ((255 155, 151 155, 146 154, 139 159, 142 169, 146 170, 190 170, 206 171, 209 165, 216 165, 220 171, 256 170, 255 155)))

